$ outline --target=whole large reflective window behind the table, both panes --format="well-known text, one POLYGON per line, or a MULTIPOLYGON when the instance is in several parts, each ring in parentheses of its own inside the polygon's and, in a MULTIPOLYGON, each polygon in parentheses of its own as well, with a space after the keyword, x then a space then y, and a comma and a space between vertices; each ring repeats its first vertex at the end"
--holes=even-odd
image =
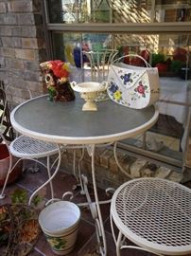
MULTIPOLYGON (((181 166, 180 162, 187 157, 183 151, 191 107, 190 0, 47 0, 44 3, 50 58, 71 64, 72 81, 107 80, 113 58, 127 54, 141 55, 158 68, 160 118, 146 135, 122 144, 130 151, 133 146, 135 153, 145 149, 154 153, 152 157, 181 166)), ((123 62, 143 65, 136 56, 125 57, 123 62)))

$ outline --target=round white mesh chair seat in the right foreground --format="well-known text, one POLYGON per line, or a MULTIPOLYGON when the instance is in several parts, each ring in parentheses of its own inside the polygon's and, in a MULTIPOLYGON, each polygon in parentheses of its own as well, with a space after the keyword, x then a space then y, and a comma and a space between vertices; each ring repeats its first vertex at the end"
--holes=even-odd
POLYGON ((159 178, 139 178, 113 194, 116 227, 134 244, 155 253, 191 252, 191 190, 159 178))

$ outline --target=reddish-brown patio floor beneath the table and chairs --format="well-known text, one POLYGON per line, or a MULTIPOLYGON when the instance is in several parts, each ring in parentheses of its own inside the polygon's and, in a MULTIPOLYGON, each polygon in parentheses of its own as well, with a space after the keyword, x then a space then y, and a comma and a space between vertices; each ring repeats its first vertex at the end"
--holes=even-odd
MULTIPOLYGON (((22 176, 14 183, 8 186, 6 190, 6 198, 0 201, 0 205, 4 203, 9 203, 10 198, 9 194, 14 192, 16 188, 25 189, 29 194, 37 189, 41 184, 43 184, 44 180, 46 180, 47 174, 45 170, 41 169, 40 172, 31 174, 29 172, 25 172, 22 176)), ((63 192, 66 191, 73 191, 75 197, 73 202, 85 202, 85 196, 81 195, 79 189, 77 188, 77 181, 72 174, 66 174, 64 172, 59 172, 55 179, 53 180, 54 188, 55 188, 55 196, 61 198, 63 192), (76 189, 75 189, 76 188, 76 189)), ((191 182, 185 184, 186 186, 191 188, 191 182)), ((91 189, 91 186, 90 186, 91 189)), ((90 190, 91 191, 91 190, 90 190)), ((98 189, 99 199, 108 199, 106 197, 105 192, 101 189, 98 189)), ((41 192, 43 195, 44 201, 47 198, 50 198, 50 191, 49 186, 43 189, 41 192)), ((115 247, 113 242, 113 236, 111 233, 110 227, 110 220, 109 220, 109 210, 110 205, 102 205, 101 211, 104 220, 104 226, 106 230, 106 238, 108 244, 108 256, 114 256, 115 254, 115 247)), ((1 255, 1 253, 0 253, 1 255)), ((54 256, 55 254, 51 251, 50 247, 48 246, 43 233, 41 233, 34 249, 30 252, 29 256, 54 256)), ((87 208, 81 209, 81 221, 78 231, 78 240, 76 243, 76 247, 68 254, 69 256, 96 256, 96 232, 95 232, 95 225, 92 219, 91 213, 87 208)), ((122 256, 125 255, 133 255, 133 256, 148 256, 152 255, 147 252, 139 251, 139 250, 124 250, 121 253, 122 256)))

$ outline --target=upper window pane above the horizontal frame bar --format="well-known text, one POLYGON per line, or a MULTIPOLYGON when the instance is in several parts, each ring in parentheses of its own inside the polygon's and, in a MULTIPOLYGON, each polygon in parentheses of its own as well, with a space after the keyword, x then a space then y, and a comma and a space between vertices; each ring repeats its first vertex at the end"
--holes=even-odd
POLYGON ((190 0, 48 0, 51 23, 150 23, 191 20, 190 0))

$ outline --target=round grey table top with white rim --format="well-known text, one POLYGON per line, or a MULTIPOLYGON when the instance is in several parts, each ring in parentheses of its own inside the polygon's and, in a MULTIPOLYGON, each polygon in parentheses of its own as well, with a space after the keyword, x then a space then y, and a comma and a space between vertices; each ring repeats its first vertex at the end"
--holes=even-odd
POLYGON ((47 95, 18 105, 10 114, 18 132, 63 144, 97 144, 136 136, 158 119, 154 106, 134 110, 113 101, 97 102, 97 111, 82 111, 84 101, 47 101, 47 95))

